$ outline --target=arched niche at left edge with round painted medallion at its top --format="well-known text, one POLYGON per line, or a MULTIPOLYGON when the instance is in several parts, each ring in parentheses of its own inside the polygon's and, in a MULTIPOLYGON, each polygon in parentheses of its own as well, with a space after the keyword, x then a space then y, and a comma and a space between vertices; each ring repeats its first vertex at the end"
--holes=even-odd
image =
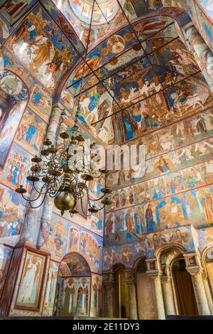
POLYGON ((28 104, 28 88, 18 75, 0 71, 0 168, 4 167, 6 156, 23 112, 28 104))

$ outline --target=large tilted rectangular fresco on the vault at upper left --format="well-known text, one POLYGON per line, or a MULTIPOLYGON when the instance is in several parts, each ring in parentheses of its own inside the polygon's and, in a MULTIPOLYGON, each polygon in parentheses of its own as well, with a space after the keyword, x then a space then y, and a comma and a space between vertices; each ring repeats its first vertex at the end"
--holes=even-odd
POLYGON ((33 9, 6 41, 6 46, 50 91, 78 59, 58 26, 40 6, 33 9))

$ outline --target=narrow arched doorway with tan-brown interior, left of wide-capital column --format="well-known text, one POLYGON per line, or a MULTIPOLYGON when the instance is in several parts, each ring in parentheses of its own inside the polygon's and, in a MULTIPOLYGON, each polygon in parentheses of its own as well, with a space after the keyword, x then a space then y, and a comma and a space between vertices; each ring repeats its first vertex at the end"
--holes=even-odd
POLYGON ((136 289, 138 318, 142 320, 156 319, 152 281, 146 271, 146 260, 139 259, 136 263, 136 289))

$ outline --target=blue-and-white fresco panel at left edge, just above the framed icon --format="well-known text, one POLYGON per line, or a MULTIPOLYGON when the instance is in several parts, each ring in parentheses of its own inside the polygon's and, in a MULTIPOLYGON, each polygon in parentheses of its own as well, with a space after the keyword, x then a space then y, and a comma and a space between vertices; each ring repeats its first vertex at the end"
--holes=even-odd
POLYGON ((26 201, 9 188, 0 185, 0 241, 18 242, 26 212, 26 201), (13 241, 14 240, 14 241, 13 241))

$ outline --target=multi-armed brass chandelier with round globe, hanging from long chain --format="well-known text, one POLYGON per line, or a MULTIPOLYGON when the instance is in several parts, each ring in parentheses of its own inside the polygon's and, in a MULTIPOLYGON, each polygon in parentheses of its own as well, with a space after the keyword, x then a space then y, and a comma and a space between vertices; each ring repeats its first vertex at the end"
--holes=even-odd
MULTIPOLYGON (((92 13, 94 9, 94 3, 92 13)), ((92 16, 89 26, 89 33, 92 25, 92 16)), ((89 45, 89 36, 87 39, 87 51, 89 45)), ((82 75, 84 75, 86 60, 82 75)), ((55 207, 58 208, 63 215, 65 211, 70 212, 73 217, 79 213, 77 208, 83 212, 85 216, 92 215, 99 210, 102 210, 105 205, 112 203, 110 194, 111 189, 106 186, 107 169, 98 169, 95 166, 95 161, 99 162, 101 156, 98 153, 92 153, 97 148, 96 144, 91 144, 89 152, 85 149, 84 138, 80 134, 78 115, 80 112, 80 95, 82 92, 83 77, 81 78, 80 94, 77 101, 77 111, 75 114, 75 125, 70 131, 59 134, 63 140, 60 147, 55 147, 49 139, 43 142, 43 150, 40 156, 35 156, 31 159, 33 166, 31 167, 32 174, 27 176, 27 180, 31 181, 35 198, 28 199, 24 196, 26 189, 20 185, 16 189, 16 193, 20 193, 22 197, 30 203, 31 208, 39 208, 43 205, 47 196, 54 198, 55 207), (89 195, 89 181, 97 180, 102 183, 104 188, 101 189, 102 195, 99 198, 92 198, 89 195), (38 187, 36 185, 38 184, 38 187), (37 195, 38 194, 38 195, 37 195), (41 198, 41 200, 40 200, 41 198), (38 204, 38 201, 40 203, 38 204), (32 203, 35 202, 35 206, 32 203), (80 203, 80 205, 79 205, 80 203), (84 210, 84 203, 87 203, 87 211, 84 210), (97 205, 97 203, 99 203, 97 205)))

